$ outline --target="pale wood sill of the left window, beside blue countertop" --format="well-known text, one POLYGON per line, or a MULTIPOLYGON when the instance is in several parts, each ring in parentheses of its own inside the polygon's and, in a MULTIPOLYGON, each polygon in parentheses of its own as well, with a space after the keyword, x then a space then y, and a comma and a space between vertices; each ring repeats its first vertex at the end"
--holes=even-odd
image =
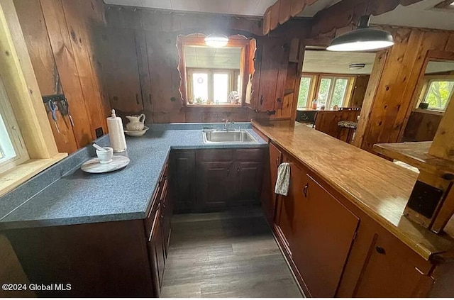
POLYGON ((27 160, 23 164, 14 167, 13 169, 0 174, 0 196, 18 187, 23 182, 26 182, 31 177, 39 172, 47 169, 48 167, 59 162, 67 157, 67 153, 58 153, 52 158, 43 158, 38 160, 27 160))

